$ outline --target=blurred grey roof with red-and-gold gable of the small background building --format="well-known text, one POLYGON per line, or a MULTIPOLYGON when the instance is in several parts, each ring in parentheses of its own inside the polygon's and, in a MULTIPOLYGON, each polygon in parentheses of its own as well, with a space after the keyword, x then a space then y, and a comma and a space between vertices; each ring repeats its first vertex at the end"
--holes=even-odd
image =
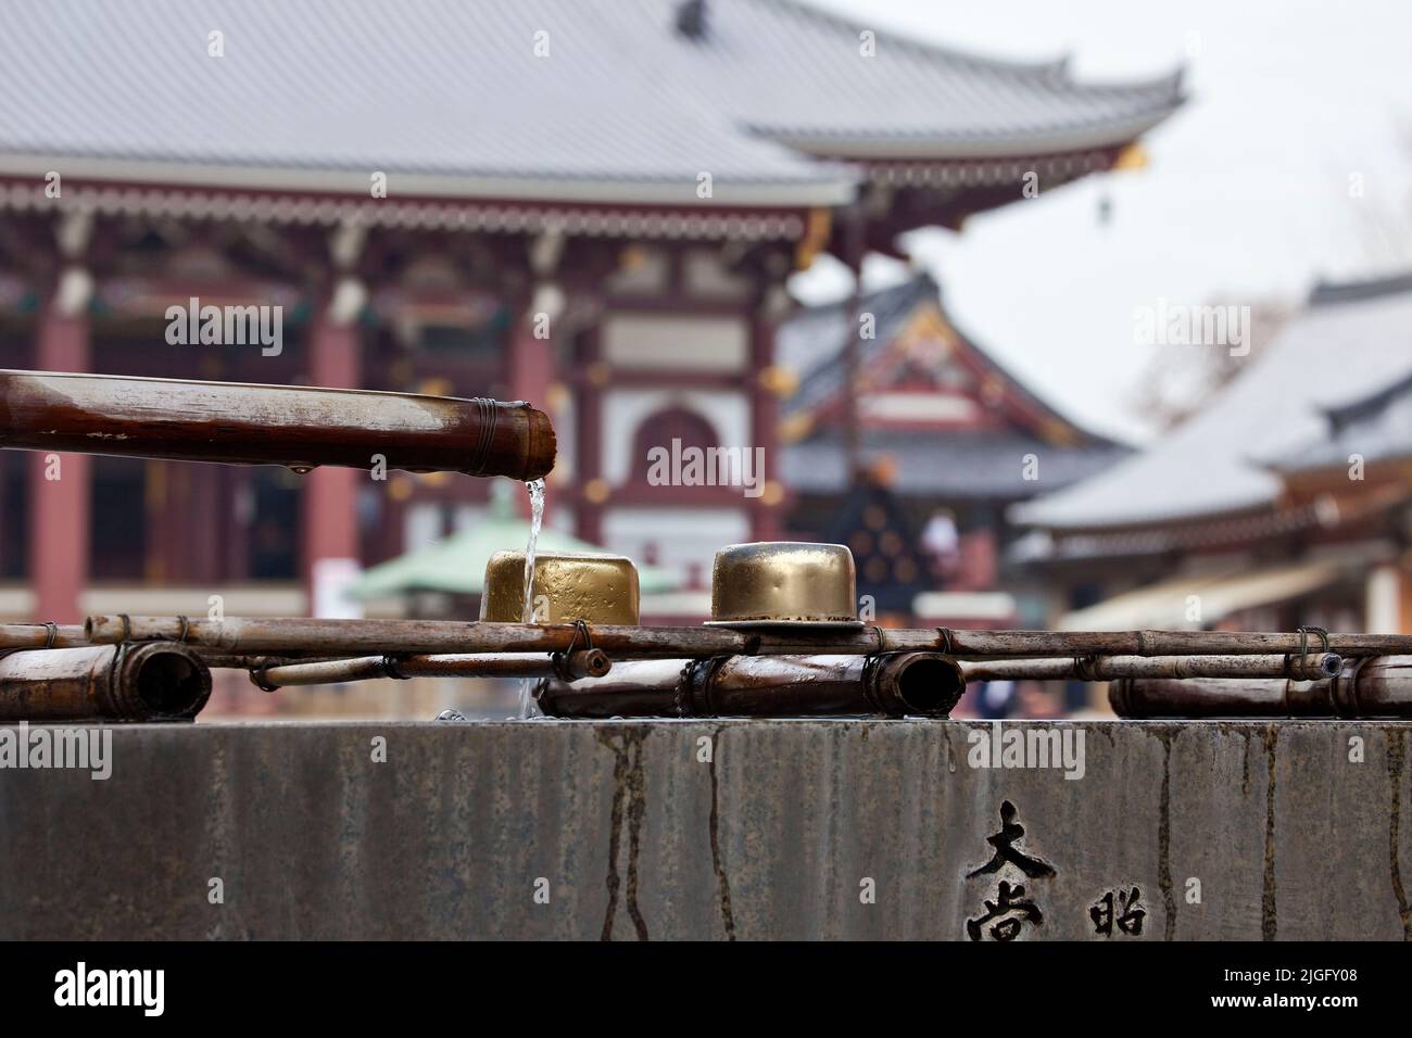
MULTIPOLYGON (((858 350, 868 394, 887 393, 895 371, 921 364, 933 377, 943 367, 955 367, 955 386, 949 388, 973 402, 971 419, 957 415, 932 422, 888 422, 860 417, 863 455, 885 456, 894 463, 892 486, 898 493, 1017 500, 1032 496, 1039 486, 1067 486, 1127 455, 1127 448, 1079 428, 1055 411, 960 333, 929 275, 919 274, 867 294, 858 309, 875 318, 874 338, 860 340, 858 350), (909 350, 904 340, 918 329, 921 338, 936 342, 909 350), (946 345, 940 356, 932 349, 938 343, 946 345), (987 387, 991 388, 984 391, 987 387), (973 398, 973 393, 980 398, 973 398), (1042 482, 1024 479, 1025 455, 1039 459, 1042 482)), ((784 322, 777 333, 777 363, 799 377, 798 390, 781 408, 785 428, 806 429, 784 449, 781 477, 792 490, 827 494, 853 484, 839 422, 850 316, 847 302, 810 306, 784 322)))

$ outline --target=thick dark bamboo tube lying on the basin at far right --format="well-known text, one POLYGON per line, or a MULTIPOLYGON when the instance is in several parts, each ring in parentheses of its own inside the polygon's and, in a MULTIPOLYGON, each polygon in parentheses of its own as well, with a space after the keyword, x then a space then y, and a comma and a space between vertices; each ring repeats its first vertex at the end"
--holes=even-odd
POLYGON ((1412 717, 1412 655, 1351 660, 1308 682, 1125 678, 1108 703, 1120 717, 1412 717))

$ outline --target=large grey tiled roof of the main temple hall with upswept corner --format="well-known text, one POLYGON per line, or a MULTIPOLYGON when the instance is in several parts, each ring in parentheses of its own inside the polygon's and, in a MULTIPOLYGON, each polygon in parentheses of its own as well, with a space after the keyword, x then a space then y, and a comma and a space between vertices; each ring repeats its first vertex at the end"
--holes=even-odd
MULTIPOLYGON (((794 0, 69 0, 10 4, 0 174, 366 193, 839 205, 822 158, 1121 145, 1178 76, 1084 85, 794 0), (223 34, 209 56, 208 34, 223 34), (537 32, 546 56, 535 55, 537 32)), ((542 49, 542 47, 541 47, 542 49)))

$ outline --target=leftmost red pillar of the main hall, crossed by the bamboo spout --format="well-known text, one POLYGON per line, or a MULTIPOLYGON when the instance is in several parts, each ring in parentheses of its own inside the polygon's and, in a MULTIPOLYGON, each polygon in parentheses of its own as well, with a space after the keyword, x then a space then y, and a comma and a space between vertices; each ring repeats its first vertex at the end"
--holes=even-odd
MULTIPOLYGON (((88 371, 88 315, 61 314, 51 304, 40 318, 34 353, 41 371, 88 371)), ((41 451, 30 455, 28 561, 35 620, 82 619, 79 595, 88 583, 90 479, 88 455, 41 451)))

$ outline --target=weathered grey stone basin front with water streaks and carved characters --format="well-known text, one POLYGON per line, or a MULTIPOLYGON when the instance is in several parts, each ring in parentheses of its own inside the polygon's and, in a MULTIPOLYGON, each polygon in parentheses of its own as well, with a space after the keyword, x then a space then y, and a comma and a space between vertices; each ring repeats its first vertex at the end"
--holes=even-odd
POLYGON ((1021 939, 1134 939, 1132 887, 1141 939, 1412 935, 1412 724, 1052 727, 1082 780, 973 722, 119 727, 107 781, 0 771, 0 936, 966 939, 1003 880, 1021 939), (1004 801, 1052 876, 967 877, 1004 801))

